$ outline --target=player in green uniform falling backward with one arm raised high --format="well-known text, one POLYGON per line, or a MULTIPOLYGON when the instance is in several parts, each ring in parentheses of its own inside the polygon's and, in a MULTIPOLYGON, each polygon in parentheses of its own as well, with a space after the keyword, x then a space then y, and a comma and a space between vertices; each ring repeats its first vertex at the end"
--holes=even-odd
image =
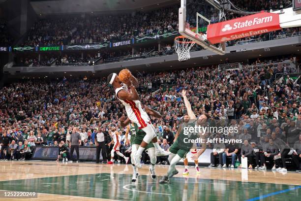
MULTIPOLYGON (((187 141, 187 139, 188 138, 196 139, 197 137, 202 137, 202 136, 204 137, 204 134, 193 133, 193 132, 192 133, 189 132, 189 134, 185 134, 184 131, 186 129, 189 130, 189 127, 194 127, 195 125, 202 125, 209 119, 209 115, 206 113, 202 114, 198 119, 196 118, 195 114, 191 109, 191 105, 186 97, 185 90, 182 90, 182 97, 188 114, 184 115, 184 122, 180 127, 181 132, 178 135, 176 141, 169 149, 169 151, 171 152, 171 154, 168 157, 170 166, 168 168, 167 174, 163 176, 163 178, 159 181, 159 183, 168 183, 169 178, 179 173, 179 171, 176 169, 176 164, 186 156, 186 154, 193 146, 193 143, 191 141, 187 141)), ((205 150, 206 150, 206 143, 202 143, 201 149, 196 154, 193 155, 192 159, 193 160, 198 159, 199 156, 205 152, 205 150)))

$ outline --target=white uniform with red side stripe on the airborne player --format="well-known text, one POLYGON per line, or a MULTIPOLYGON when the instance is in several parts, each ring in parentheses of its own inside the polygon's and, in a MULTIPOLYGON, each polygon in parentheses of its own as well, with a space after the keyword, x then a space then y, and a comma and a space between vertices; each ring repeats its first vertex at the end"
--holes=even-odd
MULTIPOLYGON (((115 90, 117 98, 118 98, 118 92, 120 90, 126 90, 130 92, 127 86, 125 84, 122 84, 120 88, 117 88, 115 90)), ((120 100, 120 101, 125 106, 125 111, 128 118, 132 122, 136 123, 139 126, 139 129, 145 128, 147 126, 147 123, 151 121, 149 115, 142 109, 140 100, 120 100)))

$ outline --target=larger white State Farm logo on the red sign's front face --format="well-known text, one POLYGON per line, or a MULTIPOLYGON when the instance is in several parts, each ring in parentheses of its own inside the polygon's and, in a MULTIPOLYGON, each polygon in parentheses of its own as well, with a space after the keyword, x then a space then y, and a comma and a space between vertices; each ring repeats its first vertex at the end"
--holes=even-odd
POLYGON ((224 28, 221 30, 222 32, 236 30, 244 27, 255 26, 260 24, 269 23, 273 20, 272 16, 266 16, 262 18, 255 17, 252 20, 245 20, 243 22, 236 22, 233 24, 233 27, 230 24, 226 24, 224 28))

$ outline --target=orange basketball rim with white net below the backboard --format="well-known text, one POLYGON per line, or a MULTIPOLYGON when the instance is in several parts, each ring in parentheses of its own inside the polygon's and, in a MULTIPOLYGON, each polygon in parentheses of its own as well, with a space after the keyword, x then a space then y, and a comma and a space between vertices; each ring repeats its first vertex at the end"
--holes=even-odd
POLYGON ((185 36, 175 37, 175 49, 178 53, 179 62, 190 59, 190 49, 195 44, 195 41, 186 38, 185 36))

